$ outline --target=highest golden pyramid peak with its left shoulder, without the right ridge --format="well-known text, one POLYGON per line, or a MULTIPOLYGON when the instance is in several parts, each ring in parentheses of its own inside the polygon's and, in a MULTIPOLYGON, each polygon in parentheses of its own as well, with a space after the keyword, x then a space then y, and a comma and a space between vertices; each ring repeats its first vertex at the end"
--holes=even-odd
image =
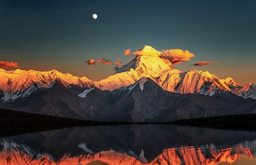
POLYGON ((100 80, 97 87, 112 91, 131 85, 142 77, 156 79, 162 71, 173 69, 172 63, 164 54, 151 46, 144 46, 140 53, 128 64, 117 69, 113 75, 100 80))

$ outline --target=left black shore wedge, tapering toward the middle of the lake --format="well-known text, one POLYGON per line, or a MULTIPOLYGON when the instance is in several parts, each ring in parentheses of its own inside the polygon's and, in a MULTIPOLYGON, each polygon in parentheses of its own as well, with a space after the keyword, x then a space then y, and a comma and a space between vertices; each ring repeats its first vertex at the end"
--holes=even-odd
POLYGON ((126 123, 79 120, 0 108, 0 137, 54 130, 65 127, 112 124, 126 123))

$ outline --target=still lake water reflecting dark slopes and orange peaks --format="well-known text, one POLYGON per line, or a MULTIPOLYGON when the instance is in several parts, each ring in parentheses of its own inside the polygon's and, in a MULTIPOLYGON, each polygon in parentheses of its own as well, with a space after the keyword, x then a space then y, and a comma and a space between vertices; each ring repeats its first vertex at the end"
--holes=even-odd
POLYGON ((255 131, 106 125, 0 139, 1 165, 256 164, 255 131))

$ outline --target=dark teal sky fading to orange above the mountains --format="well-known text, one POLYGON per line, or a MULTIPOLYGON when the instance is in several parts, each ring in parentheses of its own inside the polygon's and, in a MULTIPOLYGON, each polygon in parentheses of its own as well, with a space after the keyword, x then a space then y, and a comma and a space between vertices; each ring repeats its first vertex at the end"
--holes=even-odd
POLYGON ((175 69, 256 84, 255 6, 256 1, 1 1, 0 60, 17 62, 22 70, 55 69, 100 80, 114 73, 113 65, 85 60, 121 56, 126 64, 131 59, 125 49, 150 45, 194 53, 175 69), (198 61, 219 63, 191 67, 198 61))

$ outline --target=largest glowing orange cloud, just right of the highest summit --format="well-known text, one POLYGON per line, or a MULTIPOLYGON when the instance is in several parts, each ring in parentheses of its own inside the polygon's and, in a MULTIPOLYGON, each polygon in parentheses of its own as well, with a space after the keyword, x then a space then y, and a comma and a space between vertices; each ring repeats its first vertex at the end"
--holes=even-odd
POLYGON ((162 51, 173 65, 179 64, 183 61, 189 61, 192 57, 195 57, 195 55, 190 53, 188 50, 183 51, 181 49, 162 49, 162 51))

